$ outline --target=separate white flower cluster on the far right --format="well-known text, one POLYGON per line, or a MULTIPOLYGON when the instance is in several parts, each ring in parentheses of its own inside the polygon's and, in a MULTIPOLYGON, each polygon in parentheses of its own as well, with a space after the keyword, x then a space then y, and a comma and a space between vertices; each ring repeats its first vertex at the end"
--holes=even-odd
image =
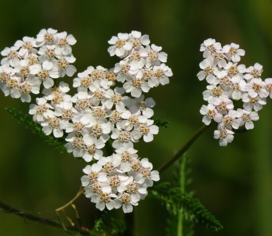
POLYGON ((201 71, 197 76, 209 84, 203 92, 208 105, 200 109, 202 121, 205 125, 211 121, 218 123, 214 138, 220 139, 220 146, 227 146, 239 127, 254 128, 253 121, 259 120, 258 111, 267 97, 272 98, 272 78, 261 79, 263 69, 259 63, 248 68, 238 64, 245 54, 238 44, 222 47, 209 38, 201 44, 200 51, 205 59, 199 64, 201 71))

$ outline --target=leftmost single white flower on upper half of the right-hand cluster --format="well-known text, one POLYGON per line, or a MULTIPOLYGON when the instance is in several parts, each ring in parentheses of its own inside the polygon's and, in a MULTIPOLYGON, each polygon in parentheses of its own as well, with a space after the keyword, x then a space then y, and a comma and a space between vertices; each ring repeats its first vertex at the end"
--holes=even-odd
POLYGON ((215 76, 213 72, 215 70, 216 64, 217 62, 211 57, 208 57, 200 62, 199 66, 202 70, 197 74, 198 79, 201 81, 206 78, 209 84, 214 83, 215 76))

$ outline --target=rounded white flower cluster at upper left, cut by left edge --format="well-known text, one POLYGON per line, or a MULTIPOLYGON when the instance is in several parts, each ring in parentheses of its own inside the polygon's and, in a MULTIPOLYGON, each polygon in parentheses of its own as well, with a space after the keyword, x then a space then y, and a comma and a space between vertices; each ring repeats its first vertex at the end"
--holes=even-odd
POLYGON ((37 95, 41 83, 48 89, 54 85, 53 79, 73 76, 76 69, 70 65, 75 61, 71 45, 75 43, 71 34, 43 29, 36 38, 23 37, 5 48, 0 66, 0 88, 5 96, 30 102, 30 93, 37 95))

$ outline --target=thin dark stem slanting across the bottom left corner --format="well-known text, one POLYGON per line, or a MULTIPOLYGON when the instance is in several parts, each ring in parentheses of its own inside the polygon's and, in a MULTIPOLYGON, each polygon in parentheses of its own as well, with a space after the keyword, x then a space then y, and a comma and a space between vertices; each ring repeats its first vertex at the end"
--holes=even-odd
MULTIPOLYGON (((45 224, 45 225, 49 225, 49 226, 53 226, 53 227, 57 227, 57 228, 62 228, 63 227, 60 223, 58 223, 58 222, 56 222, 54 220, 34 216, 34 215, 30 214, 30 213, 26 213, 25 211, 22 211, 22 210, 19 210, 19 209, 13 207, 13 206, 10 206, 10 205, 2 202, 2 201, 0 201, 0 208, 4 209, 5 213, 15 214, 15 215, 17 215, 19 217, 22 217, 24 219, 28 219, 28 220, 31 220, 31 221, 39 222, 41 224, 45 224)), ((88 229, 86 227, 81 227, 80 230, 76 226, 65 225, 65 227, 68 230, 79 232, 81 234, 102 236, 102 234, 94 232, 94 231, 90 231, 90 229, 88 229)))

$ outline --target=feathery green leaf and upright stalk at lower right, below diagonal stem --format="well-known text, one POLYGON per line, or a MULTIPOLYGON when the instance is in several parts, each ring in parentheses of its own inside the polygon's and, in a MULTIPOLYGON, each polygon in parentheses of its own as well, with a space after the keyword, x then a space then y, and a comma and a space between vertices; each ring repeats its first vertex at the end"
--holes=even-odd
POLYGON ((149 191, 148 197, 159 200, 169 211, 169 219, 167 220, 169 236, 192 236, 195 223, 201 223, 213 231, 223 228, 199 199, 193 197, 193 192, 187 191, 192 182, 189 177, 191 169, 188 167, 188 162, 189 159, 184 154, 179 161, 177 171, 174 172, 173 184, 160 182, 149 191))

